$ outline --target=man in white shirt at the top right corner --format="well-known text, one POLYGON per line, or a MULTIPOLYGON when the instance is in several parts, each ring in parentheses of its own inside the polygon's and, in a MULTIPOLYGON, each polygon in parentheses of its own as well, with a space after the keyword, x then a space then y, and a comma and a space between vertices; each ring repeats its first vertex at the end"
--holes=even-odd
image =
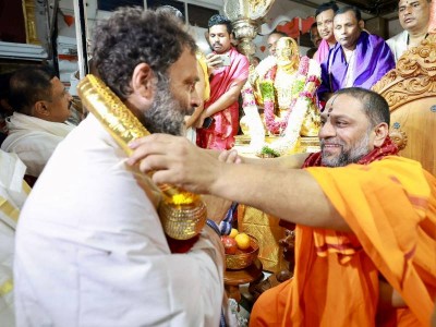
POLYGON ((386 43, 392 50, 395 61, 411 47, 417 47, 428 34, 429 0, 400 0, 398 20, 403 32, 389 38, 386 43))

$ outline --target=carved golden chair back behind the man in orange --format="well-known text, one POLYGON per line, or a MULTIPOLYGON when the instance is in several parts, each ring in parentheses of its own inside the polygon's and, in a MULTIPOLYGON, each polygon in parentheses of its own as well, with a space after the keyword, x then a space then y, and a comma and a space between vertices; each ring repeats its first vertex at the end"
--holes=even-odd
POLYGON ((403 157, 420 161, 436 173, 434 131, 436 129, 436 35, 405 51, 395 70, 373 90, 385 97, 390 109, 390 137, 403 157))

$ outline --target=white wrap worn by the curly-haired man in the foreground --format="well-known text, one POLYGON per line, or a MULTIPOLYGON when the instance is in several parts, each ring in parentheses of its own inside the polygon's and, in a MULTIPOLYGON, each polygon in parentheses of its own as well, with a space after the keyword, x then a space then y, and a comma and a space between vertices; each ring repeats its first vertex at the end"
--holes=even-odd
POLYGON ((56 149, 20 217, 17 326, 218 326, 219 237, 206 227, 171 254, 149 181, 125 159, 92 114, 56 149))

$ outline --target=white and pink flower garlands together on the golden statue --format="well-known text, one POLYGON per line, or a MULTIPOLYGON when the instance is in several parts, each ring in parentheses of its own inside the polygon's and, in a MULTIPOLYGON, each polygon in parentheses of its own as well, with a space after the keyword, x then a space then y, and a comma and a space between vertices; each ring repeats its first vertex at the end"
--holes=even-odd
MULTIPOLYGON (((264 59, 267 62, 261 62, 263 63, 262 65, 259 64, 255 70, 251 71, 251 76, 242 89, 242 107, 250 129, 250 147, 252 150, 257 155, 267 154, 268 156, 278 157, 290 153, 296 146, 306 113, 314 110, 318 113, 316 89, 320 85, 320 68, 319 64, 316 64, 307 57, 301 59, 291 92, 290 109, 286 117, 278 121, 274 114, 276 96, 272 82, 277 73, 277 63, 275 58, 268 59, 264 59), (259 66, 262 68, 261 70, 258 70, 259 66), (272 144, 265 143, 265 130, 256 106, 255 89, 264 98, 265 121, 268 130, 274 133, 270 126, 276 125, 278 128, 276 128, 275 134, 281 133, 282 135, 272 144)), ((317 117, 319 118, 319 116, 317 117)))

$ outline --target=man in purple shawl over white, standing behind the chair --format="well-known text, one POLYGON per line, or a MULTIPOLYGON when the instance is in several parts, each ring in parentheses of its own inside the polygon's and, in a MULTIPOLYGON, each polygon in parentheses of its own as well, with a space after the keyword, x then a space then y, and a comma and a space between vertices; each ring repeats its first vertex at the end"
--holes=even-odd
POLYGON ((319 99, 328 100, 338 89, 363 87, 370 89, 395 68, 393 55, 386 41, 363 29, 361 12, 353 7, 335 14, 336 46, 322 63, 319 99))

